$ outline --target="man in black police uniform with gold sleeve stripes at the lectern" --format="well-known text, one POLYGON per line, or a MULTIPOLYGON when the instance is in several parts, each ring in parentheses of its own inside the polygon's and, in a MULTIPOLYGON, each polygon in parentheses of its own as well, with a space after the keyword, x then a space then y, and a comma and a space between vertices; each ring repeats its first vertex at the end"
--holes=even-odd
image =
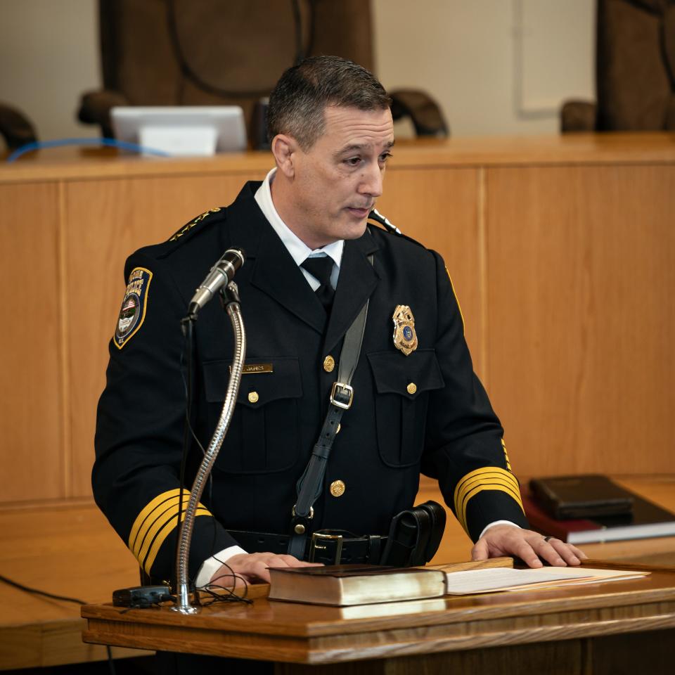
MULTIPOLYGON (((290 68, 269 101, 276 168, 266 180, 127 261, 98 406, 94 494, 157 579, 174 569, 186 406, 181 318, 208 269, 233 247, 246 253, 236 282, 247 367, 195 521, 189 572, 198 585, 229 568, 267 580, 268 566, 307 564, 278 541, 288 539, 296 482, 326 416, 345 332, 366 300, 354 403, 335 437, 311 531, 386 535, 392 516, 412 505, 421 472, 439 481, 476 542, 474 559, 518 555, 538 567, 541 559, 576 565, 583 555, 527 529, 442 259, 367 225, 394 144, 389 105, 381 84, 349 61, 318 57, 290 68), (237 534, 250 532, 278 536, 261 544, 237 534)), ((219 303, 208 304, 195 330, 192 411, 204 446, 226 392, 232 340, 219 303)), ((192 442, 188 476, 200 458, 192 442)))

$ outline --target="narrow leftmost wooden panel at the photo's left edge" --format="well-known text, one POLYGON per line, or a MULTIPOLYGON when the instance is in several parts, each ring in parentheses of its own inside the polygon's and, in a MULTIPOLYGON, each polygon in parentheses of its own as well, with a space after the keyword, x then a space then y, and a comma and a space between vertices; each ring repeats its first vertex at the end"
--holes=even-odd
POLYGON ((64 496, 58 188, 0 185, 0 503, 64 496))

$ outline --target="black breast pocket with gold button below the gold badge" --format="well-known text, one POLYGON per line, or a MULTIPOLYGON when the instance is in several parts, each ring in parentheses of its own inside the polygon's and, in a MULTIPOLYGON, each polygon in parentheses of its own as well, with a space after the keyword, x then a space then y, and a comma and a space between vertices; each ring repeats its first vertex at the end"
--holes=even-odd
POLYGON ((412 466, 422 456, 429 392, 444 386, 433 349, 409 356, 399 352, 366 354, 375 380, 375 417, 382 461, 412 466))

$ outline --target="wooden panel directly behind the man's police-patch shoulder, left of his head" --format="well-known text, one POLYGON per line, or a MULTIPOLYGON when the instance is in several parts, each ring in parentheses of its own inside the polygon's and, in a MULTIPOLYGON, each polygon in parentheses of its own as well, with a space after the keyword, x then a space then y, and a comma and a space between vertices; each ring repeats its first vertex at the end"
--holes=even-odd
MULTIPOLYGON (((228 205, 249 178, 150 176, 68 184, 68 295, 78 305, 69 315, 68 335, 74 496, 91 495, 96 404, 124 295, 124 261, 143 245, 167 240, 198 214, 228 205)), ((214 261, 219 253, 214 251, 214 261)))

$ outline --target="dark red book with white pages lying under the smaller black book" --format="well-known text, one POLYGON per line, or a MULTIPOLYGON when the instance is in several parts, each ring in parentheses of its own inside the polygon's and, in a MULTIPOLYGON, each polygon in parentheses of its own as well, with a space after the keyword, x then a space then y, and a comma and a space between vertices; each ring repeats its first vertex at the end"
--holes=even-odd
POLYGON ((633 493, 631 495, 631 513, 573 520, 551 518, 530 495, 523 494, 522 503, 532 529, 542 534, 551 534, 568 544, 595 544, 600 541, 675 535, 675 513, 641 496, 633 493))

